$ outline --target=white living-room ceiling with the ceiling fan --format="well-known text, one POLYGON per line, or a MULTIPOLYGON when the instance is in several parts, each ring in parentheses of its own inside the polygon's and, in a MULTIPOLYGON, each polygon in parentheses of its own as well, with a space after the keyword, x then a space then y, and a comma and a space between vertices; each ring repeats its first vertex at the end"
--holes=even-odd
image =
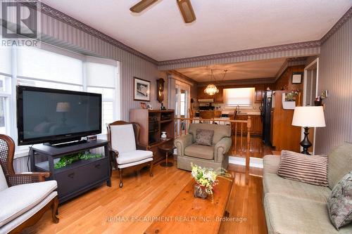
POLYGON ((40 0, 155 60, 321 39, 352 0, 191 0, 185 24, 176 0, 131 13, 139 0, 40 0))

